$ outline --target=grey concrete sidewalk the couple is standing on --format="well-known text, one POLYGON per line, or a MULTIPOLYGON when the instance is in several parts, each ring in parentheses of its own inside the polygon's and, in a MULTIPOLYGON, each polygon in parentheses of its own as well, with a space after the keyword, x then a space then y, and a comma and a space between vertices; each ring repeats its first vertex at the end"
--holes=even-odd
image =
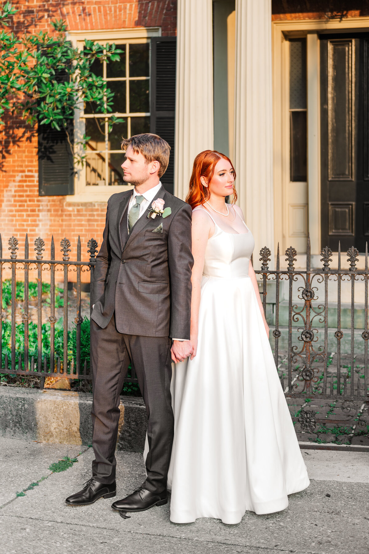
MULTIPOLYGON (((247 512, 239 525, 211 519, 176 525, 169 504, 127 520, 111 510, 112 499, 66 506, 66 496, 90 478, 91 448, 0 439, 0 553, 367 553, 369 453, 302 452, 311 485, 290 496, 287 510, 247 512), (51 473, 50 464, 66 455, 78 461, 51 473)), ((116 454, 119 499, 142 483, 144 465, 142 454, 116 454)))

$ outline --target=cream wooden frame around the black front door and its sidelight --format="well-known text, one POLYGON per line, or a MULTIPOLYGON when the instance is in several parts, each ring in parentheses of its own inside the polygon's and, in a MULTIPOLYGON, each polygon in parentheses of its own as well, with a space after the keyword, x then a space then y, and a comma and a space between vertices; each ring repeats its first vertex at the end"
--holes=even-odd
MULTIPOLYGON (((301 19, 272 22, 273 63, 273 181, 274 181, 274 248, 282 239, 282 252, 293 241, 289 236, 289 67, 288 39, 306 37, 307 65, 307 129, 308 129, 308 230, 312 265, 319 266, 320 230, 320 68, 319 34, 369 30, 369 17, 337 20, 301 19), (278 214, 278 217, 277 217, 278 214), (282 214, 282 218, 280 217, 282 214)), ((299 184, 299 183, 298 183, 299 184)), ((299 240, 301 243, 302 240, 299 240)), ((304 240, 306 240, 304 238, 304 240)), ((295 241, 296 242, 296 241, 295 241)), ((305 255, 297 255, 297 266, 303 266, 305 255)))

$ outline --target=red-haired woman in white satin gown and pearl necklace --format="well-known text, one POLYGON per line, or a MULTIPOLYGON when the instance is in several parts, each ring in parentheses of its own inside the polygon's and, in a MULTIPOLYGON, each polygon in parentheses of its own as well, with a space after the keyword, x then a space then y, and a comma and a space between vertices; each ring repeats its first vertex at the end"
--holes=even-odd
POLYGON ((237 524, 246 510, 285 509, 289 494, 309 486, 250 263, 254 239, 241 209, 225 203, 237 199, 235 178, 223 154, 196 156, 186 199, 193 355, 176 363, 171 383, 175 523, 215 517, 237 524))

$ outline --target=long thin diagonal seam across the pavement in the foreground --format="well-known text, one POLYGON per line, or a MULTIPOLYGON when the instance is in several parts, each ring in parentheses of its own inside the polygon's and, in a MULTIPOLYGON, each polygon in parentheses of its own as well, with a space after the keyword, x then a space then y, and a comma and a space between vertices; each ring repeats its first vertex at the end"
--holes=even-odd
MULTIPOLYGON (((61 524, 64 524, 64 525, 71 525, 71 526, 77 526, 77 527, 87 527, 88 529, 91 528, 91 529, 102 529, 102 530, 105 530, 105 531, 115 531, 119 534, 122 533, 122 531, 119 531, 118 529, 116 529, 116 527, 102 527, 100 525, 88 525, 88 524, 80 524, 80 523, 75 523, 75 522, 70 522, 70 521, 57 521, 57 520, 50 520, 50 519, 40 519, 39 517, 30 517, 30 516, 20 516, 20 515, 16 515, 16 514, 0 514, 0 517, 17 517, 18 519, 22 519, 22 520, 33 520, 33 521, 39 521, 43 524, 45 524, 45 522, 49 522, 49 523, 53 523, 53 524, 58 524, 58 525, 61 525, 61 524)), ((161 537, 161 538, 173 538, 173 539, 179 539, 179 540, 183 540, 183 541, 192 541, 192 542, 202 542, 202 543, 207 543, 209 545, 224 545, 224 546, 241 546, 243 548, 254 548, 255 550, 273 550, 275 552, 297 552, 297 550, 292 550, 291 548, 275 548, 273 546, 254 546, 254 545, 246 545, 245 543, 237 543, 237 542, 226 542, 226 541, 210 541, 210 540, 207 540, 206 538, 191 538, 191 537, 182 537, 182 536, 178 536, 178 535, 163 535, 163 534, 160 534, 160 533, 148 533, 148 532, 138 532, 138 531, 131 531, 129 529, 126 529, 126 530, 123 530, 123 532, 125 533, 130 533, 131 535, 145 535, 145 536, 148 536, 148 537, 161 537)), ((316 552, 316 551, 312 551, 312 550, 305 550, 305 551, 302 551, 302 550, 299 550, 298 554, 321 554, 321 551, 320 552, 316 552)))

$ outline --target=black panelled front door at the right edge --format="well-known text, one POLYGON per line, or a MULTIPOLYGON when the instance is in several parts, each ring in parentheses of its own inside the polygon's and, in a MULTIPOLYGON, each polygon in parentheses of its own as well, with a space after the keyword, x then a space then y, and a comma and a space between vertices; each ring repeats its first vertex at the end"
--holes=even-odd
POLYGON ((321 245, 369 238, 369 34, 320 36, 321 245))

